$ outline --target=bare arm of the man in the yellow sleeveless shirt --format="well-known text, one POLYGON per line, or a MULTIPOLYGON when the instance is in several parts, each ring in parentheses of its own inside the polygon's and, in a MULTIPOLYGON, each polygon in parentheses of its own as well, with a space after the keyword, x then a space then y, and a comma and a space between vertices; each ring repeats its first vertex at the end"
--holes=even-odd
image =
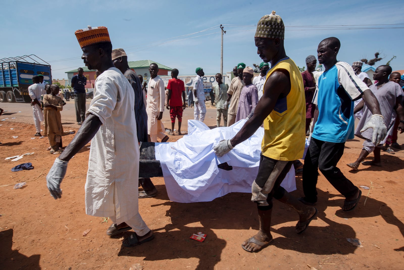
POLYGON ((286 70, 278 70, 267 79, 264 95, 255 107, 254 115, 247 120, 242 129, 230 140, 234 147, 251 137, 261 126, 265 118, 274 110, 276 101, 290 92, 290 77, 286 70))

